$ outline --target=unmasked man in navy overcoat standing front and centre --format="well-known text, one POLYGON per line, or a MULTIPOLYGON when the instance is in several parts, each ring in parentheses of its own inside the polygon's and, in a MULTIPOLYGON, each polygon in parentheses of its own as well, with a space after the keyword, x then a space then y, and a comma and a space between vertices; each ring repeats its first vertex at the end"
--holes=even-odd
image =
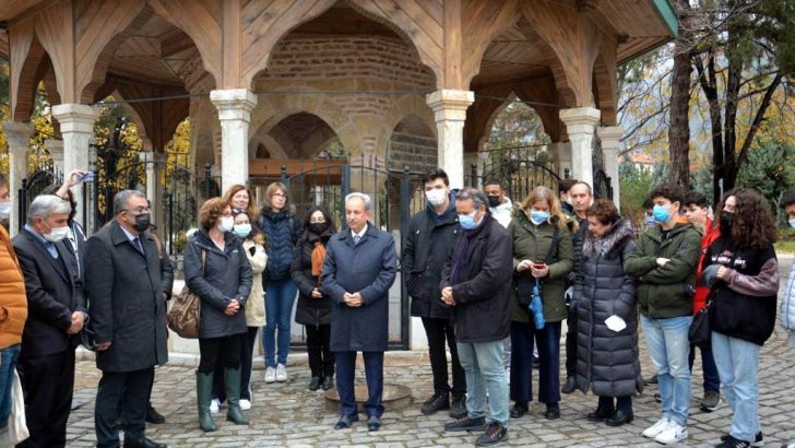
POLYGON ((345 197, 345 229, 329 240, 321 274, 331 297, 331 350, 336 358, 340 421, 335 429, 359 420, 354 394, 356 352, 365 358, 367 428, 381 428, 383 352, 388 345, 389 288, 397 271, 392 235, 369 223, 372 202, 363 193, 345 197))

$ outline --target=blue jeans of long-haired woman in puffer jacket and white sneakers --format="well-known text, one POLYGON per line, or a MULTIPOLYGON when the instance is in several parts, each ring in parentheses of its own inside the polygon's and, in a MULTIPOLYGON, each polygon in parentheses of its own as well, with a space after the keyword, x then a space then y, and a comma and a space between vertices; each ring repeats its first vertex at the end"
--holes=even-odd
POLYGON ((265 328, 262 345, 265 349, 265 366, 276 367, 276 328, 278 328, 278 364, 287 364, 289 353, 289 322, 298 286, 293 280, 265 282, 265 328))

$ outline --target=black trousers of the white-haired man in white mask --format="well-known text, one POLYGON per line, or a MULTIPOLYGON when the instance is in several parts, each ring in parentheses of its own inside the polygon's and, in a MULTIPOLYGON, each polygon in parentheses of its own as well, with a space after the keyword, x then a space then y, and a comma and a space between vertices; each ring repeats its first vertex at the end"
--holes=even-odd
POLYGON ((20 358, 16 369, 25 394, 31 437, 17 447, 64 447, 74 387, 74 350, 20 358))

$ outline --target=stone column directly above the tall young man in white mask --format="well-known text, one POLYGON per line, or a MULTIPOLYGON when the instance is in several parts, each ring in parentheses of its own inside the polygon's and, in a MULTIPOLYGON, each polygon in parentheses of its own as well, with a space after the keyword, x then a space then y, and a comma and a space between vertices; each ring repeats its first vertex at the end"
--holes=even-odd
POLYGON ((428 94, 438 134, 439 166, 450 177, 450 187, 464 186, 464 121, 466 108, 475 102, 471 91, 441 90, 428 94))

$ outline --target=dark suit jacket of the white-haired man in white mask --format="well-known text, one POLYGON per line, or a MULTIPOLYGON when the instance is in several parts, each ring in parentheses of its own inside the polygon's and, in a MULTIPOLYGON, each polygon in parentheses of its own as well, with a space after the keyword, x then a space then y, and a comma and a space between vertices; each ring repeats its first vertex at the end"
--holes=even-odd
POLYGON ((67 329, 72 325, 72 313, 87 310, 74 259, 67 247, 69 241, 55 244, 57 259, 27 229, 20 232, 12 241, 27 295, 27 321, 22 333, 20 357, 74 350, 80 337, 67 334, 67 329))

